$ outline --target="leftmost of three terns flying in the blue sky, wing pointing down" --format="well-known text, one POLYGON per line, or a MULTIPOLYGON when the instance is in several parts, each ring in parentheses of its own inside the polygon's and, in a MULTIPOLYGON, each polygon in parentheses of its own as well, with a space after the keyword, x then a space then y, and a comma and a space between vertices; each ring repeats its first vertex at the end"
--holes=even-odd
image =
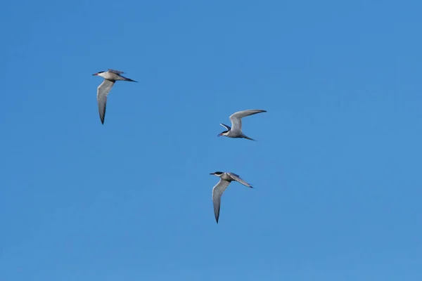
POLYGON ((100 119, 102 124, 104 124, 104 117, 106 117, 107 96, 108 93, 110 93, 111 88, 113 88, 115 81, 137 82, 135 80, 123 77, 121 74, 124 74, 124 72, 110 69, 92 74, 104 78, 103 83, 101 83, 97 88, 98 112, 100 112, 100 119))

